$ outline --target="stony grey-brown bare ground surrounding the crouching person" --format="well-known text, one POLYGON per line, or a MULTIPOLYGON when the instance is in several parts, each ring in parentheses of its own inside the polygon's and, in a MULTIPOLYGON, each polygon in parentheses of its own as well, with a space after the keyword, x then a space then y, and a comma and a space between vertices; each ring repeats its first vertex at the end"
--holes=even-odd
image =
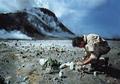
POLYGON ((70 40, 1 40, 0 75, 8 84, 119 84, 120 83, 120 41, 109 41, 111 51, 106 74, 81 74, 68 68, 65 78, 58 73, 46 74, 39 59, 57 59, 64 63, 84 55, 84 50, 73 48, 70 40))

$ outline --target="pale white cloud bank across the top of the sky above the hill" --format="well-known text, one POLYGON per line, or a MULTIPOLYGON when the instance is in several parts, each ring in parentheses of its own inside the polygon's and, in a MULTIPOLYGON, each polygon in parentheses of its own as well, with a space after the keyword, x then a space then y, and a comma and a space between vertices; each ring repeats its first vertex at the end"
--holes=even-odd
POLYGON ((0 0, 0 11, 15 11, 29 7, 45 7, 58 17, 83 12, 103 4, 106 0, 0 0))

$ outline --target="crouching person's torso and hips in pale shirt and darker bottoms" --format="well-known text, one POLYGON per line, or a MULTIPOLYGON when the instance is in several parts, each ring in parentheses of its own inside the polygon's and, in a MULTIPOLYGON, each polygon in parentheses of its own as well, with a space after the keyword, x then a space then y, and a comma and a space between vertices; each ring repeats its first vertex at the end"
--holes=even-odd
POLYGON ((110 51, 110 47, 103 38, 97 34, 84 35, 86 41, 85 51, 86 54, 93 52, 97 58, 103 54, 107 54, 110 51))

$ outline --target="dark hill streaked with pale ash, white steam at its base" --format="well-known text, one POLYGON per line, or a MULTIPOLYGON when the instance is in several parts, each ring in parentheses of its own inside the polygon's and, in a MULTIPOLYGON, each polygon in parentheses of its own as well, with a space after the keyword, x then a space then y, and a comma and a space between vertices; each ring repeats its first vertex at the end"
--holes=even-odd
POLYGON ((65 27, 53 12, 45 8, 31 8, 15 13, 0 14, 0 34, 0 39, 69 39, 74 37, 74 33, 65 27))

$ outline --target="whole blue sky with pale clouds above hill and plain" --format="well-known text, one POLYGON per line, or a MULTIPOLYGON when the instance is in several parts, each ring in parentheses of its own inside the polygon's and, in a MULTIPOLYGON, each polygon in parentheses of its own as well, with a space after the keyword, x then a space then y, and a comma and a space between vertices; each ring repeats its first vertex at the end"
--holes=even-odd
POLYGON ((120 0, 0 0, 0 12, 44 7, 76 35, 120 37, 120 0))

